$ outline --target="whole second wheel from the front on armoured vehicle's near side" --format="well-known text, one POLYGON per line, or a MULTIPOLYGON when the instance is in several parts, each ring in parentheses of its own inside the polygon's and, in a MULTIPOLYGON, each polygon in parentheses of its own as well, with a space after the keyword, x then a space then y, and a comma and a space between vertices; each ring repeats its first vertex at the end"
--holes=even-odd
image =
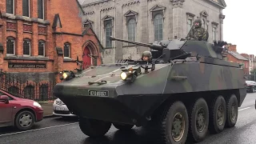
POLYGON ((209 125, 209 110, 204 98, 198 98, 189 112, 190 129, 189 139, 194 142, 202 142, 206 138, 209 125))

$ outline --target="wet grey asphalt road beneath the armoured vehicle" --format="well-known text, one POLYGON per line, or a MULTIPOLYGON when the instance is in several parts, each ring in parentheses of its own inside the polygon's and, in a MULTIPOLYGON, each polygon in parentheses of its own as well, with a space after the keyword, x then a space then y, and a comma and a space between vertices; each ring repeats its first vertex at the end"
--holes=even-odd
MULTIPOLYGON (((198 144, 253 144, 256 143, 256 93, 247 94, 239 108, 238 122, 234 128, 221 134, 208 134, 198 144)), ((154 135, 142 128, 130 131, 117 130, 112 126, 104 138, 88 138, 79 129, 77 118, 46 118, 38 122, 33 130, 18 132, 10 127, 0 128, 1 144, 151 144, 154 135)))

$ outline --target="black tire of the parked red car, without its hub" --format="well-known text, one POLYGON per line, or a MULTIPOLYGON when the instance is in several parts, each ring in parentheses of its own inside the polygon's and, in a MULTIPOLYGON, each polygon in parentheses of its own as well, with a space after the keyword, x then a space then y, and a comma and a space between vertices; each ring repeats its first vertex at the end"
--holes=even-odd
POLYGON ((32 128, 32 126, 34 126, 34 122, 35 122, 35 116, 32 112, 30 112, 28 110, 20 111, 15 117, 15 127, 18 128, 18 130, 30 130, 32 128), (26 114, 28 116, 30 115, 30 118, 32 120, 32 122, 30 123, 30 126, 27 126, 27 127, 21 126, 21 124, 19 122, 19 118, 22 117, 23 114, 26 114))

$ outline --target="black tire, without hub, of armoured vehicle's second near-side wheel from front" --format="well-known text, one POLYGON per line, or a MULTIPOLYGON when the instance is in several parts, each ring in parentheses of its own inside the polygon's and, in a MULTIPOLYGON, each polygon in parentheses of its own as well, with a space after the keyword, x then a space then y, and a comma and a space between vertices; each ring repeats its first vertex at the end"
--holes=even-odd
POLYGON ((192 142, 202 142, 202 140, 206 138, 209 125, 209 110, 207 102, 204 98, 198 98, 198 100, 190 106, 189 118, 190 129, 188 139, 192 142), (196 118, 198 110, 201 110, 201 108, 204 112, 203 118, 205 119, 205 124, 202 127, 202 131, 198 131, 196 118))

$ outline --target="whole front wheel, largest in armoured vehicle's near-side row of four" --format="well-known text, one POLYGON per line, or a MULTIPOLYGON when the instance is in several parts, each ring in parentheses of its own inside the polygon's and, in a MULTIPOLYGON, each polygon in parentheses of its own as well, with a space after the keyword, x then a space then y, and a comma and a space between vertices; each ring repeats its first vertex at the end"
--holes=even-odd
POLYGON ((178 144, 186 142, 189 120, 186 106, 182 102, 174 102, 166 110, 163 110, 158 124, 161 143, 178 144))

